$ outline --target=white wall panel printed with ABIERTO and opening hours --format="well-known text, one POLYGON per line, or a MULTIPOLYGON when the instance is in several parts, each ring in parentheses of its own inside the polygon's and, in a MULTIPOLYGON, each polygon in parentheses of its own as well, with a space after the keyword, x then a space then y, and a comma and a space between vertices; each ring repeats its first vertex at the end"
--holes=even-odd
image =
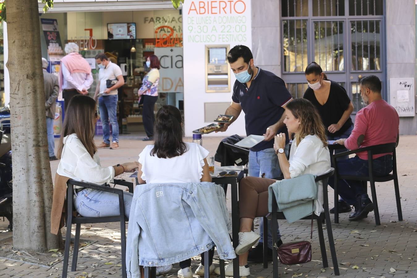
MULTIPOLYGON (((213 63, 206 49, 218 48, 220 51, 231 49, 235 45, 252 47, 251 0, 186 0, 182 14, 185 132, 186 136, 190 136, 192 130, 212 123, 206 122, 210 117, 205 117, 209 114, 205 108, 217 105, 223 110, 231 103, 236 80, 233 73, 229 73, 230 86, 225 86, 226 90, 222 90, 222 93, 206 93, 207 67, 208 63, 213 63)), ((215 50, 213 53, 215 54, 215 50)), ((222 54, 221 57, 223 56, 222 54)), ((230 70, 229 65, 226 70, 230 70)), ((227 79, 228 73, 224 73, 222 68, 221 75, 227 79)), ((226 137, 233 134, 246 135, 244 113, 241 113, 226 132, 211 133, 210 136, 226 137)))

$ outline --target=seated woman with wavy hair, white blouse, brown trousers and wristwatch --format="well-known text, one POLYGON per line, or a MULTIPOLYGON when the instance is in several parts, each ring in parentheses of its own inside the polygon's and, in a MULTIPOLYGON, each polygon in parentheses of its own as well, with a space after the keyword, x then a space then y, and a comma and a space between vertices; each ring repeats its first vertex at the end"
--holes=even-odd
MULTIPOLYGON (((284 124, 288 133, 295 133, 291 145, 289 160, 285 148, 285 133, 275 136, 274 150, 278 155, 279 167, 284 178, 299 175, 322 175, 330 168, 330 154, 327 148, 326 130, 317 108, 306 99, 297 98, 286 105, 284 124)), ((236 254, 239 255, 241 276, 249 275, 247 265, 248 250, 259 240, 259 235, 251 230, 255 217, 268 214, 268 187, 276 180, 257 177, 243 178, 239 184, 240 233, 236 254)), ((323 189, 319 184, 314 213, 323 211, 323 189)), ((280 240, 277 245, 281 245, 280 240)), ((226 276, 230 276, 233 267, 226 265, 226 276)), ((217 271, 216 271, 217 272, 217 271)))

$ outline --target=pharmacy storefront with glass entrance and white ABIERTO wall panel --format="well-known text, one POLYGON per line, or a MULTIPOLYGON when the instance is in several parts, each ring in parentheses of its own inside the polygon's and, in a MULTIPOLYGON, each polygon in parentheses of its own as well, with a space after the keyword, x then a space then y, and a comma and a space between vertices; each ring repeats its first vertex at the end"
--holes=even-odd
MULTIPOLYGON (((148 56, 157 55, 161 62, 155 110, 164 104, 178 107, 184 113, 186 136, 191 136, 192 130, 213 123, 231 102, 235 78, 226 60, 229 49, 252 45, 251 0, 187 0, 178 10, 170 0, 55 0, 46 14, 41 3, 39 7, 48 71, 58 75, 68 42, 77 43, 90 63, 90 96, 98 78, 96 54, 105 53, 121 67, 126 84, 119 92, 118 115, 127 132, 143 130, 137 91, 149 70, 148 56)), ((211 135, 236 133, 245 133, 243 116, 227 133, 211 135)))

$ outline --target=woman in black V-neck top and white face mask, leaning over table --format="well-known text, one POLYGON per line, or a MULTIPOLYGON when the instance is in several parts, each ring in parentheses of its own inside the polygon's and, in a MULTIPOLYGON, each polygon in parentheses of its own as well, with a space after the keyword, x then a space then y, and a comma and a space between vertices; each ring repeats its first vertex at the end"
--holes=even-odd
MULTIPOLYGON (((309 88, 305 91, 303 98, 310 100, 319 110, 324 126, 327 129, 327 139, 348 138, 350 133, 352 133, 353 123, 350 114, 353 111, 353 104, 346 90, 336 82, 327 80, 326 74, 320 65, 315 62, 307 65, 305 75, 309 88)), ((344 151, 346 149, 338 149, 334 150, 334 153, 344 151)), ((347 159, 348 156, 344 158, 347 159)), ((342 199, 339 200, 338 207, 341 213, 352 210, 342 199)), ((330 213, 334 213, 334 208, 330 210, 330 213)))

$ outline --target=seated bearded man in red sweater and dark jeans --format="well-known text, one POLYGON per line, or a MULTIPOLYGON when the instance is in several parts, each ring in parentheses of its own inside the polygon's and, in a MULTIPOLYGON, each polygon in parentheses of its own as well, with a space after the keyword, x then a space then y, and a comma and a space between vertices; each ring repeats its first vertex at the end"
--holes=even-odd
MULTIPOLYGON (((347 139, 339 139, 337 144, 344 145, 349 150, 373 145, 397 142, 399 136, 399 117, 397 111, 381 96, 381 81, 375 75, 364 76, 360 81, 361 96, 366 107, 356 114, 352 134, 347 139)), ((382 153, 373 156, 374 174, 388 175, 392 171, 392 153, 382 153)), ((367 152, 357 153, 354 158, 337 161, 340 175, 369 174, 367 152)), ((329 179, 333 188, 334 179, 329 179)), ((373 205, 368 194, 362 188, 362 182, 357 180, 339 180, 338 193, 345 202, 353 205, 354 213, 349 220, 366 218, 372 211, 373 205)))

